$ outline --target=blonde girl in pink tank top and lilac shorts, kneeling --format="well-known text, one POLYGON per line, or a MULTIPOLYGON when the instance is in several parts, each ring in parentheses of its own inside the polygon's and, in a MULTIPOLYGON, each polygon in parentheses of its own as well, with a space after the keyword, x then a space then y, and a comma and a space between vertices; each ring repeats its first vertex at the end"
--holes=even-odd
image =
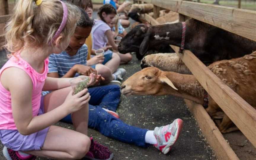
POLYGON ((5 28, 12 55, 0 70, 0 140, 7 159, 81 159, 89 151, 87 89, 73 95, 70 79, 47 77, 47 57, 67 48, 79 18, 77 7, 63 1, 16 1, 5 28), (57 91, 42 97, 42 90, 57 91), (74 130, 53 126, 70 113, 74 130))

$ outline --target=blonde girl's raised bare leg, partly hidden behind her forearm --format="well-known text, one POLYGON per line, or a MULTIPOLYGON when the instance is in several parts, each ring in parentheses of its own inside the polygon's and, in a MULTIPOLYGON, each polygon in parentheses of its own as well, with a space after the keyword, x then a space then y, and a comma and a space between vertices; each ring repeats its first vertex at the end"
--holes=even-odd
MULTIPOLYGON (((44 97, 44 112, 47 113, 63 104, 71 87, 53 91, 44 97)), ((72 122, 76 131, 87 135, 88 133, 88 103, 81 110, 72 113, 72 122)))

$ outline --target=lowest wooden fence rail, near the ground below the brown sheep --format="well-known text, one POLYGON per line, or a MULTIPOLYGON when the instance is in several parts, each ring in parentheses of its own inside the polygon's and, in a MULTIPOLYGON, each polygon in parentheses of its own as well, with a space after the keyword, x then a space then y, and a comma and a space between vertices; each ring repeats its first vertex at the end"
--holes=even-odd
POLYGON ((239 160, 202 105, 184 99, 219 160, 239 160))

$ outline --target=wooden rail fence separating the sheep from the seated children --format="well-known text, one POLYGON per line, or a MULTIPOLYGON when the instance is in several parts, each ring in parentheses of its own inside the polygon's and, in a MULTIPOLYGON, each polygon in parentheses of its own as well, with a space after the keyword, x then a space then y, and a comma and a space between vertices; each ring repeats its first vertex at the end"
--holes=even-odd
MULTIPOLYGON (((255 11, 180 0, 140 0, 134 1, 134 3, 151 3, 154 5, 153 17, 148 14, 143 15, 151 25, 159 25, 155 19, 159 17, 160 9, 169 9, 179 13, 180 22, 191 17, 256 41, 255 11)), ((256 147, 256 110, 225 85, 189 50, 179 53, 179 47, 173 45, 171 47, 225 114, 256 147)), ((239 159, 204 107, 186 99, 185 103, 196 118, 201 131, 218 159, 239 159)))

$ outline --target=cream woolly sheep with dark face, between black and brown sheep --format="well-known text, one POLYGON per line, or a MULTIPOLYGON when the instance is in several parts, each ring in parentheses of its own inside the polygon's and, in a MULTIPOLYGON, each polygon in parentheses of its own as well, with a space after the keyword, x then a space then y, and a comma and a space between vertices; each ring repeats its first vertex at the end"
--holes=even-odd
POLYGON ((180 74, 191 74, 187 66, 176 53, 157 53, 145 56, 140 63, 141 68, 156 67, 162 71, 180 74))

